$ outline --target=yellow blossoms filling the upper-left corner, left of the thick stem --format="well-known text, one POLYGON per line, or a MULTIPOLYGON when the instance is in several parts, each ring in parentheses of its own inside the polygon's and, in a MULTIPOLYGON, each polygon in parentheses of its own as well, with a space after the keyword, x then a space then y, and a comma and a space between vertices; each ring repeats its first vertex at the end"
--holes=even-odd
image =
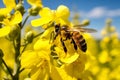
POLYGON ((0 9, 0 16, 2 17, 0 20, 0 23, 2 24, 2 28, 0 28, 0 37, 8 35, 12 26, 16 26, 16 24, 22 21, 22 15, 19 11, 16 11, 13 15, 10 14, 16 7, 15 0, 3 0, 3 3, 6 8, 0 9))

